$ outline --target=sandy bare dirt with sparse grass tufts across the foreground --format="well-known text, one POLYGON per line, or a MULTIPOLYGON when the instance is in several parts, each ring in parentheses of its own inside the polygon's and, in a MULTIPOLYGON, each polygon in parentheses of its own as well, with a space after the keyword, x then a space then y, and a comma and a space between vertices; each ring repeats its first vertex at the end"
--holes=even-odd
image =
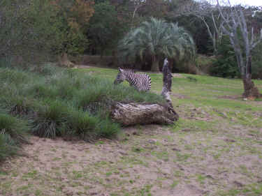
POLYGON ((136 126, 124 128, 119 140, 96 144, 31 137, 27 156, 4 165, 0 195, 201 196, 262 180, 261 135, 241 143, 245 126, 219 128, 207 134, 136 126))

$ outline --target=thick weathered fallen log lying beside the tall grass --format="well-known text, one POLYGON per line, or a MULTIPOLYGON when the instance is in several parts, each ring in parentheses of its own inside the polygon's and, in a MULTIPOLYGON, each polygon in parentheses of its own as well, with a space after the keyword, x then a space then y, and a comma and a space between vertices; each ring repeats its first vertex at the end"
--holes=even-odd
POLYGON ((168 125, 173 124, 179 117, 168 105, 118 102, 112 107, 111 118, 123 126, 132 126, 151 123, 168 125))

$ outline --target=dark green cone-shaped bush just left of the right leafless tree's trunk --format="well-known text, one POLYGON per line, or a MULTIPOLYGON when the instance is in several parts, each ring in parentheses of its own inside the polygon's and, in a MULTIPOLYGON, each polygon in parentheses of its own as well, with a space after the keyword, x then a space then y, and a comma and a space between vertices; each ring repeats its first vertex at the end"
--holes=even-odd
POLYGON ((239 77, 238 63, 235 59, 235 52, 231 47, 228 37, 221 40, 221 44, 217 48, 217 59, 214 60, 213 66, 210 68, 211 75, 219 77, 239 77))

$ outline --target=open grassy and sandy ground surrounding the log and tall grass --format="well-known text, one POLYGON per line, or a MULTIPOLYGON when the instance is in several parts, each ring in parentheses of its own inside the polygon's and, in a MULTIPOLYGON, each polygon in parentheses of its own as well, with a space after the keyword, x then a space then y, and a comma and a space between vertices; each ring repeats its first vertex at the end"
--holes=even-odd
MULTIPOLYGON (((70 73, 113 82, 117 70, 82 68, 70 73)), ((0 195, 262 195, 261 100, 242 100, 241 80, 177 76, 171 96, 180 120, 173 126, 124 128, 117 140, 95 144, 31 137, 33 144, 24 145, 27 156, 3 163, 0 195)), ((162 75, 150 77, 152 92, 159 94, 162 75)), ((17 84, 31 81, 26 75, 18 78, 17 84)), ((262 90, 262 81, 254 82, 262 90)), ((2 91, 8 93, 8 88, 2 91)), ((70 95, 76 99, 71 93, 61 98, 70 95)))

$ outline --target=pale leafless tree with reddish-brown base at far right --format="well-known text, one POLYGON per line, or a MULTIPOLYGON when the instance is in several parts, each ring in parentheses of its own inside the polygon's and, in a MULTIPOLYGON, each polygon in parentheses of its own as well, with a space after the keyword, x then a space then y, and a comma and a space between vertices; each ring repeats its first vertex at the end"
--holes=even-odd
POLYGON ((261 96, 259 90, 252 82, 252 52, 256 45, 262 40, 262 29, 260 36, 254 35, 254 28, 247 27, 242 6, 221 6, 217 0, 217 8, 221 15, 221 29, 229 37, 235 57, 238 62, 242 81, 244 84, 243 98, 258 98, 261 96))

